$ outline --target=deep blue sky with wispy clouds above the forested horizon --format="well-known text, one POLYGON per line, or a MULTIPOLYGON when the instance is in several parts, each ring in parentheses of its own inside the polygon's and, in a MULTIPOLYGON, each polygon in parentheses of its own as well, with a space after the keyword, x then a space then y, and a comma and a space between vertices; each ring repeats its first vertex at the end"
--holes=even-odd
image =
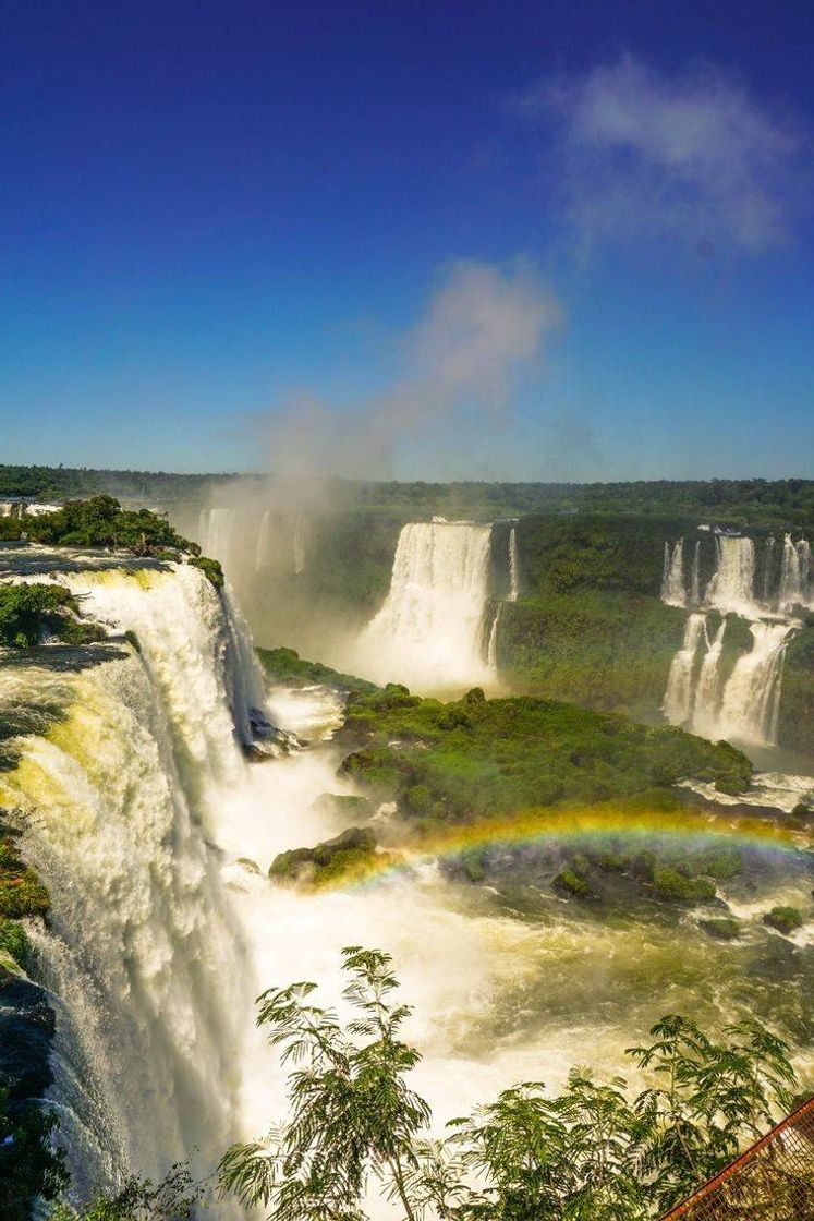
POLYGON ((814 475, 814 11, 674 9, 6 0, 0 460, 814 475))

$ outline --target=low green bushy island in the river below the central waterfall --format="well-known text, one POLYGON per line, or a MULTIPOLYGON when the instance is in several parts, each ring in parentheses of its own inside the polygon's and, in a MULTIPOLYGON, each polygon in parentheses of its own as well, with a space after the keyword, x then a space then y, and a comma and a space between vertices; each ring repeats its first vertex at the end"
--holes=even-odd
POLYGON ((535 806, 632 797, 682 777, 742 792, 752 764, 725 742, 531 696, 453 703, 389 686, 353 696, 343 770, 415 818, 466 822, 535 806))

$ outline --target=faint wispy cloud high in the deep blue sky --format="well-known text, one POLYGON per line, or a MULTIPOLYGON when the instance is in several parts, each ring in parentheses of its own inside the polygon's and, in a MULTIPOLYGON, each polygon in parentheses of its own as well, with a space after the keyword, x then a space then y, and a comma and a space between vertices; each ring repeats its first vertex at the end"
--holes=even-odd
POLYGON ((587 244, 671 239, 704 255, 788 241, 810 144, 726 72, 665 76, 622 55, 536 87, 521 109, 555 120, 553 177, 587 244))

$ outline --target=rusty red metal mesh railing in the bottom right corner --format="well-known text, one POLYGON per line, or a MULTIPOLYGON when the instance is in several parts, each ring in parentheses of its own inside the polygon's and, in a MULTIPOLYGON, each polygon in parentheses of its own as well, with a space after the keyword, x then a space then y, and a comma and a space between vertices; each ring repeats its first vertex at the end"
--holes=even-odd
POLYGON ((814 1221, 814 1098, 661 1221, 814 1221))

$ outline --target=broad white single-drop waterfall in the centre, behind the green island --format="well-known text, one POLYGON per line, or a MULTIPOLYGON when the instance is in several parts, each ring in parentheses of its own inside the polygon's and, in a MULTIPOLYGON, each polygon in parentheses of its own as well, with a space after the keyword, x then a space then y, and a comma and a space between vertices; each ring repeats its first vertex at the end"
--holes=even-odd
POLYGON ((483 621, 491 547, 491 525, 404 526, 389 592, 359 641, 364 673, 419 690, 492 681, 483 621))

